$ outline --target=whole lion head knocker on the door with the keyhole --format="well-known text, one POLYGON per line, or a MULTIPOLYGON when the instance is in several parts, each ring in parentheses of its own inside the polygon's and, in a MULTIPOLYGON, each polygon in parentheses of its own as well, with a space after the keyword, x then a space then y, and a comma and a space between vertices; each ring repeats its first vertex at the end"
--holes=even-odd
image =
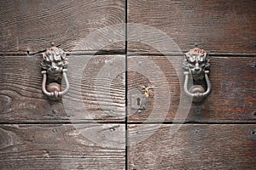
POLYGON ((210 59, 203 49, 193 48, 184 54, 183 69, 185 75, 184 93, 193 98, 194 102, 200 102, 211 93, 209 80, 210 59), (189 77, 192 78, 192 86, 188 90, 189 77), (204 81, 204 78, 206 81, 204 81), (207 84, 205 84, 205 82, 207 84), (205 88, 207 88, 207 90, 205 88))

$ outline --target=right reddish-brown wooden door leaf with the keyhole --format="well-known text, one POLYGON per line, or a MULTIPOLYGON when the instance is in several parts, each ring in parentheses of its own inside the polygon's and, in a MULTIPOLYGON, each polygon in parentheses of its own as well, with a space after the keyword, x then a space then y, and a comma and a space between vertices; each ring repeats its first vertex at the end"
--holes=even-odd
POLYGON ((159 68, 152 71, 147 62, 142 63, 144 72, 157 76, 149 81, 131 72, 129 87, 149 83, 160 87, 159 94, 170 88, 171 96, 170 105, 160 100, 158 108, 154 95, 148 99, 157 114, 148 107, 128 116, 129 169, 256 168, 255 7, 255 1, 128 1, 128 22, 154 27, 139 33, 148 35, 141 42, 134 36, 137 30, 128 29, 135 40, 128 42, 128 68, 136 67, 139 59, 159 68), (150 35, 158 36, 150 39, 150 35), (203 102, 189 105, 189 114, 184 114, 188 105, 179 107, 183 71, 175 69, 181 67, 183 56, 177 49, 187 52, 196 46, 211 56, 212 93, 203 102), (177 114, 178 109, 183 112, 177 114))

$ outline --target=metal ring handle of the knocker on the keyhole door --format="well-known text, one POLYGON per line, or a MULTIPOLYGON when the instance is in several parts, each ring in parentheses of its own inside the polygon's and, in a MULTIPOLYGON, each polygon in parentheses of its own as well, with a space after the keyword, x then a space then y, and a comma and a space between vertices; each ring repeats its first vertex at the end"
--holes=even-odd
POLYGON ((207 82, 207 91, 204 92, 204 93, 192 94, 188 90, 189 71, 184 71, 184 75, 185 75, 184 93, 187 94, 188 96, 192 97, 193 99, 197 100, 197 101, 201 101, 202 99, 206 98, 211 93, 211 90, 212 90, 212 84, 211 84, 210 79, 208 77, 208 73, 209 73, 209 71, 205 71, 205 78, 206 78, 206 82, 207 82))

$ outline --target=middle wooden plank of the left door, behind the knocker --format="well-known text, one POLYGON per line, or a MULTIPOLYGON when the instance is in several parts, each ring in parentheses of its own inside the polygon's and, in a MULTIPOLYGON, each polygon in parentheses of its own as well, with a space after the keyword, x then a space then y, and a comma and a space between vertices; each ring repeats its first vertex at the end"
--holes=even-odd
POLYGON ((42 93, 40 60, 0 57, 0 122, 124 121, 124 55, 69 56, 70 90, 61 101, 42 93))

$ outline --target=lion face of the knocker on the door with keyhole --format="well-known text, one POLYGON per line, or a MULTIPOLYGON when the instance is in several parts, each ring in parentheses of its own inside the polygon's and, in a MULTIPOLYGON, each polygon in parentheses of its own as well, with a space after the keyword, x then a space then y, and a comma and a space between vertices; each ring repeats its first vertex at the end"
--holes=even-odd
POLYGON ((202 80, 205 71, 210 67, 209 61, 210 59, 203 49, 193 48, 184 54, 183 68, 190 71, 195 80, 202 80))

